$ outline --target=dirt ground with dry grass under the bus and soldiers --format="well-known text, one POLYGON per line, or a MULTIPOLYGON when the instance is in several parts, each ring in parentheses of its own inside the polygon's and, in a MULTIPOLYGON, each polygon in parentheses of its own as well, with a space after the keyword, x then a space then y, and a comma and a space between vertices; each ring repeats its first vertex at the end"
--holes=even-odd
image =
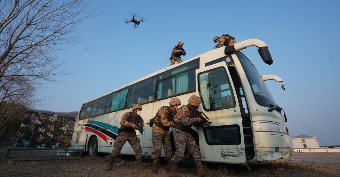
MULTIPOLYGON (((143 160, 144 170, 136 171, 136 162, 131 157, 123 157, 132 160, 125 163, 115 163, 114 170, 106 172, 105 167, 108 163, 105 157, 82 157, 81 160, 57 160, 57 161, 23 161, 4 163, 5 149, 0 149, 0 176, 138 176, 138 177, 167 177, 169 172, 166 164, 159 164, 158 174, 151 174, 152 161, 143 160)), ((11 156, 23 155, 23 152, 11 153, 11 156)), ((36 153, 36 152, 34 152, 36 153)), ((26 156, 33 156, 34 153, 25 152, 26 156)), ((38 152, 40 155, 40 152, 38 152)), ((44 155, 51 155, 46 153, 44 155)), ((327 167, 314 166, 313 163, 301 163, 293 161, 279 160, 276 162, 250 162, 252 169, 249 172, 243 165, 204 163, 204 168, 214 176, 263 176, 263 177, 302 177, 302 176, 340 176, 340 170, 327 167), (282 170, 284 169, 284 170, 282 170)), ((179 177, 194 177, 195 168, 177 169, 179 177)))

